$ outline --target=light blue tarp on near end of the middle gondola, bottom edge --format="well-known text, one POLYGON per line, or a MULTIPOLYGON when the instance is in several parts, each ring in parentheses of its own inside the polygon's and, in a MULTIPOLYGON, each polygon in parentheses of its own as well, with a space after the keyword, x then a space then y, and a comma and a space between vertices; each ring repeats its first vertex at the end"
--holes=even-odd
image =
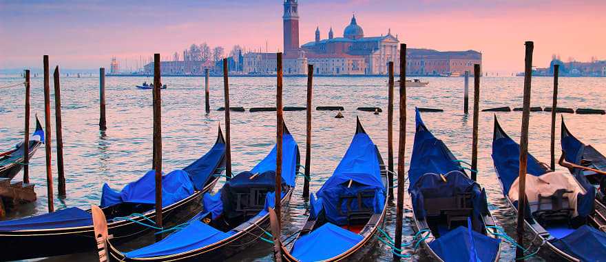
POLYGON ((322 261, 346 252, 362 239, 359 234, 325 223, 297 239, 291 254, 302 262, 322 261))

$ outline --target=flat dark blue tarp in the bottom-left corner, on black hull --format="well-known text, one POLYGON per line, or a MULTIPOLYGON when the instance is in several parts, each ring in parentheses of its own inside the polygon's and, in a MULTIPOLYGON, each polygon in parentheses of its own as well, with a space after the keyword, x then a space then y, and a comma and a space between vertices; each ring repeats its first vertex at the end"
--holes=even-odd
POLYGON ((85 225, 92 225, 92 216, 89 212, 80 208, 65 208, 24 219, 0 221, 0 231, 74 228, 85 225))

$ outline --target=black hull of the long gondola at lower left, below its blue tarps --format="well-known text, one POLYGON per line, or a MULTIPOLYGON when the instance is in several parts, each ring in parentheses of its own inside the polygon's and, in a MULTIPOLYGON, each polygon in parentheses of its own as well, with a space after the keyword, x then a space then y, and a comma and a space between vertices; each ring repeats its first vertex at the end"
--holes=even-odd
MULTIPOLYGON (((186 199, 169 205, 163 212, 163 221, 170 223, 179 218, 173 215, 189 208, 190 205, 200 202, 205 192, 214 188, 218 177, 210 181, 202 191, 195 192, 186 199)), ((156 212, 145 213, 149 219, 154 220, 156 212)), ((137 219, 139 221, 143 219, 137 219)), ((124 243, 144 234, 150 228, 132 223, 131 221, 118 221, 108 224, 109 234, 114 235, 116 243, 124 243)), ((58 256, 77 252, 95 250, 94 228, 92 225, 80 228, 65 228, 57 230, 23 230, 15 232, 0 232, 0 261, 34 259, 44 256, 58 256)))

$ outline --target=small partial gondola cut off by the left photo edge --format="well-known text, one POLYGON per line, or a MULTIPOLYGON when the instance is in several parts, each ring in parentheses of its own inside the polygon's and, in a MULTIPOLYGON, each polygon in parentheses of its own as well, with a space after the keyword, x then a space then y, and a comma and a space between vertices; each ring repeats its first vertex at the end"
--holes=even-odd
MULTIPOLYGON (((36 130, 30 137, 28 160, 31 159, 36 150, 44 143, 44 130, 36 117, 36 130)), ((13 179, 23 168, 23 141, 15 145, 13 150, 0 153, 0 178, 13 179)))

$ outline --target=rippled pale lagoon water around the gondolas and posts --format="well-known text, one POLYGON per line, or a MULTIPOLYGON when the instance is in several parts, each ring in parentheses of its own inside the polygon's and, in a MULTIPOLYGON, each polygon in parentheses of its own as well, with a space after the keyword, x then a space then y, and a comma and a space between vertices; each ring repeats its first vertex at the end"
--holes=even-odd
MULTIPOLYGON (((101 186, 109 183, 121 188, 145 174, 151 168, 151 90, 137 90, 134 86, 145 77, 107 77, 107 132, 98 131, 98 77, 63 77, 61 79, 61 102, 63 112, 63 143, 67 198, 56 199, 55 208, 77 206, 90 208, 98 204, 101 186)), ((434 134, 443 139, 450 150, 466 161, 471 159, 472 117, 463 114, 463 78, 424 78, 430 84, 425 88, 408 88, 408 119, 406 127, 406 164, 410 162, 412 138, 414 136, 414 108, 442 108, 444 112, 425 113, 424 121, 434 134)), ((0 77, 0 86, 19 83, 21 78, 0 77)), ((32 79, 32 117, 43 115, 43 79, 32 79)), ((163 83, 163 166, 165 170, 183 168, 201 154, 207 152, 216 137, 216 128, 223 123, 224 114, 216 108, 223 104, 222 78, 210 79, 211 112, 204 112, 202 77, 165 77, 163 83)), ((231 105, 244 108, 275 105, 275 78, 229 79, 231 105)), ((473 83, 470 81, 470 83, 473 83)), ((304 106, 306 99, 305 78, 284 79, 284 105, 304 106)), ((523 78, 483 77, 481 79, 480 108, 499 106, 520 107, 522 104, 523 78)), ((472 89, 472 88, 470 88, 472 89)), ((472 105, 472 94, 470 104, 472 105)), ((606 94, 606 79, 561 78, 558 106, 570 108, 606 108, 602 98, 606 94)), ((397 91, 396 91, 397 95, 397 91)), ((0 148, 11 148, 23 137, 23 88, 0 89, 0 148)), ((312 181, 311 192, 318 190, 332 174, 344 154, 355 130, 355 117, 359 116, 364 128, 379 146, 387 161, 386 77, 316 77, 314 79, 313 107, 318 105, 342 105, 344 119, 335 119, 335 112, 313 111, 312 181), (355 110, 362 106, 377 106, 384 113, 355 110)), ((534 78, 532 106, 551 106, 552 79, 534 78)), ((395 99, 395 107, 398 107, 395 99)), ((53 105, 54 107, 54 105, 53 105)), ((470 109, 471 110, 471 109, 470 109)), ((54 114, 54 112, 53 112, 54 114)), ((302 159, 305 152, 305 112, 284 112, 286 124, 300 144, 302 159)), ((491 142, 493 113, 481 112, 479 119, 479 183, 486 188, 490 208, 498 223, 510 236, 515 237, 515 214, 507 208, 505 199, 492 168, 491 142)), ((521 112, 497 113, 503 128, 514 139, 519 139, 521 112)), ((585 143, 606 152, 605 116, 564 114, 571 131, 585 143)), ((398 119, 395 110, 395 119, 398 119)), ((33 118, 32 118, 33 121, 33 118)), ((33 122, 32 122, 33 125, 33 122)), ((54 119, 52 119, 54 128, 54 119)), ((559 134, 560 122, 556 124, 559 134)), ((550 113, 534 112, 530 118, 529 150, 535 157, 549 163, 550 113)), ((53 161, 55 155, 55 133, 52 130, 53 161)), ((394 126, 397 137, 398 125, 394 126)), ((262 159, 275 139, 275 112, 232 112, 231 145, 233 170, 249 170, 262 159)), ((559 135, 556 137, 559 139, 559 135)), ((559 141, 559 140, 558 140, 559 141)), ((397 139, 395 152, 397 157, 397 139)), ((46 212, 48 196, 45 190, 44 148, 32 159, 30 176, 36 183, 38 201, 25 206, 14 216, 46 212)), ((397 163, 397 159, 395 160, 397 163)), ((561 169, 561 168, 560 168, 561 169)), ((408 167, 406 167, 408 170, 408 167)), ((56 172, 56 165, 53 166, 56 172)), ((17 179, 20 179, 18 175, 17 179)), ((56 174, 54 174, 56 179, 56 174)), ((302 179, 299 181, 302 185, 302 179)), ((221 182, 222 184, 222 182, 221 182)), ((56 186, 56 181, 54 181, 56 186)), ((217 185, 216 188, 219 188, 217 185)), ((302 200, 302 186, 293 195, 290 214, 286 216, 284 234, 300 228, 307 215, 307 205, 302 200)), ((56 192, 56 189, 55 189, 56 192)), ((412 240, 410 202, 406 199, 404 241, 412 240)), ((387 216, 388 232, 393 236, 395 206, 387 216)), ((412 252, 412 250, 410 250, 412 252)), ((233 261, 269 261, 271 248, 260 243, 249 252, 242 252, 233 261)), ((505 245, 503 261, 510 261, 515 250, 505 245)), ((542 252, 543 256, 549 252, 542 252)), ((426 254, 414 252, 415 260, 426 260, 426 254)), ((94 259, 94 254, 78 254, 61 259, 94 259)), ((56 259, 56 258, 55 258, 56 259)), ((390 260, 391 254, 385 245, 378 245, 369 260, 390 260)), ((542 261, 540 258, 535 261, 542 261)))

